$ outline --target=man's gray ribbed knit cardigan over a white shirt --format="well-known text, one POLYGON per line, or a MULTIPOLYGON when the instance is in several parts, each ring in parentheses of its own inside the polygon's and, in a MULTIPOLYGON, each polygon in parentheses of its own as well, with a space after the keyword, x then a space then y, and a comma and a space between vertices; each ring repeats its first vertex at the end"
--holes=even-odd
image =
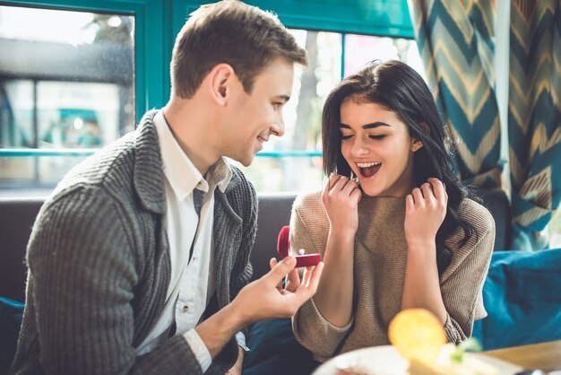
MULTIPOLYGON (((170 277, 156 113, 69 172, 41 207, 27 249, 26 307, 11 373, 202 373, 181 335, 140 357, 134 350, 160 317, 170 277)), ((217 290, 207 316, 252 275, 257 198, 232 170, 225 193, 214 193, 217 290)), ((232 338, 206 373, 221 375, 236 360, 232 338)))

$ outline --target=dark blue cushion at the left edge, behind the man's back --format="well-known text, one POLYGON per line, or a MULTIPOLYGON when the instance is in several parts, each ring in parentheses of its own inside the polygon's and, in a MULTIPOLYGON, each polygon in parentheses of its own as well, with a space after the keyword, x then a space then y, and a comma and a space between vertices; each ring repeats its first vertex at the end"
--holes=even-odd
POLYGON ((22 325, 23 303, 0 297, 0 374, 8 372, 22 325))

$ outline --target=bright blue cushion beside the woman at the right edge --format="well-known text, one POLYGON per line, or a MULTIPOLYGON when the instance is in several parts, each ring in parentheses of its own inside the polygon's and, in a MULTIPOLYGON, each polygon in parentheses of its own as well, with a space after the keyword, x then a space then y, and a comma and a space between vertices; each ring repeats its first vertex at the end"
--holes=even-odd
POLYGON ((494 253, 483 301, 473 336, 485 350, 561 339, 561 249, 494 253))

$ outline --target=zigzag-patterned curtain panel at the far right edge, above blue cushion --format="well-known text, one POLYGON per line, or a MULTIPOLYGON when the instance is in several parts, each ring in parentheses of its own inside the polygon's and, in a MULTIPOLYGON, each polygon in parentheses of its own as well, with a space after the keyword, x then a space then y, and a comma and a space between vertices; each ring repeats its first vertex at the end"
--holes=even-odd
POLYGON ((513 248, 545 249, 561 198, 561 0, 514 0, 508 142, 513 248))

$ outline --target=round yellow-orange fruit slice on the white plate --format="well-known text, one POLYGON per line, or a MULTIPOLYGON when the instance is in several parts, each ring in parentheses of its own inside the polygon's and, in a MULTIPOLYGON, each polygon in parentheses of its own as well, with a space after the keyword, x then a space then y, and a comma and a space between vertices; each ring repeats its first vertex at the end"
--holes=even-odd
POLYGON ((388 336, 405 358, 423 362, 433 362, 446 344, 444 327, 425 309, 402 310, 390 322, 388 336))

